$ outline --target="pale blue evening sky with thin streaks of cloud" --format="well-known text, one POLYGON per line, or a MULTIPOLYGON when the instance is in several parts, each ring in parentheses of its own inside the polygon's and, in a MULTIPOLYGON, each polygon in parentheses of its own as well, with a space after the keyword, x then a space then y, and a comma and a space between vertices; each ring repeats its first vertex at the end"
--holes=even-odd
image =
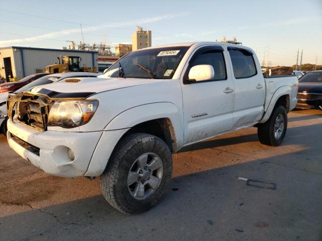
MULTIPOLYGON (((273 66, 322 64, 322 0, 21 1, 0 0, 0 47, 131 43, 136 26, 152 46, 236 37, 273 66)), ((113 49, 112 49, 113 50, 113 49)))

